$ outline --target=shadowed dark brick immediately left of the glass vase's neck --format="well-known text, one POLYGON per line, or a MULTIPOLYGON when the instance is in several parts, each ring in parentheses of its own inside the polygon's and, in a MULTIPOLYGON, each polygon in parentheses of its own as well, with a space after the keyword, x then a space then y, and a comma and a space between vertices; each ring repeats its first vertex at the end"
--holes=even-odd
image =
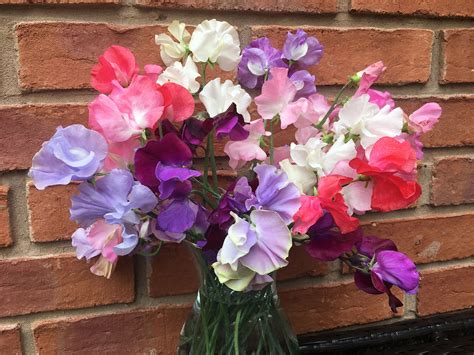
POLYGON ((184 245, 167 244, 153 257, 148 287, 151 297, 181 295, 198 290, 197 265, 184 245))

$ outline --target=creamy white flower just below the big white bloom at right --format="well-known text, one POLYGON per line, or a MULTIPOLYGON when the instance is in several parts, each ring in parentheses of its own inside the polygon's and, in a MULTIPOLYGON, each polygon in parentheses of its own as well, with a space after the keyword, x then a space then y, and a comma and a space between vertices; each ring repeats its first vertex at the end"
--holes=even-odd
POLYGON ((304 145, 292 143, 290 156, 296 165, 325 176, 339 161, 351 160, 357 155, 354 142, 350 140, 345 143, 344 136, 340 136, 329 149, 326 146, 319 138, 310 138, 304 145))

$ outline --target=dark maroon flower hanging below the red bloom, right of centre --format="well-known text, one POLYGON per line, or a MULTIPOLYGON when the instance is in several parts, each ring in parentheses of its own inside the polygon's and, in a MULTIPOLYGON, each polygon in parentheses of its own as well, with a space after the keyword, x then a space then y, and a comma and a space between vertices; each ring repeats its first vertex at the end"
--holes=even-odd
POLYGON ((350 251, 354 244, 362 239, 360 228, 353 232, 341 234, 332 230, 325 230, 322 233, 310 234, 310 242, 306 245, 306 251, 313 258, 323 261, 332 261, 342 254, 350 251))

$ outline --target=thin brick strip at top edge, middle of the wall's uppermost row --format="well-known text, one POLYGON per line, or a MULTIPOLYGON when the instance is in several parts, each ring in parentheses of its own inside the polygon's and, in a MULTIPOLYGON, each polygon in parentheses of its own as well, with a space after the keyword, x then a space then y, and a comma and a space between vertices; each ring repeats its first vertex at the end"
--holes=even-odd
POLYGON ((173 9, 235 10, 235 11, 269 11, 269 12, 306 12, 336 13, 337 0, 302 0, 297 2, 281 0, 231 1, 210 0, 137 0, 139 6, 152 6, 173 9))

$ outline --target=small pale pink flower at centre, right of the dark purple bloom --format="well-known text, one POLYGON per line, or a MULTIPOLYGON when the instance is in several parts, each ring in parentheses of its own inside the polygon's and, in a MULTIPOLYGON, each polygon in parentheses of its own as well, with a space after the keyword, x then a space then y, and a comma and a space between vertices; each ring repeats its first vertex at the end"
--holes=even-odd
POLYGON ((229 166, 239 169, 252 160, 264 161, 267 157, 265 151, 260 148, 260 137, 265 134, 263 120, 256 120, 244 126, 250 134, 242 141, 229 141, 224 147, 224 152, 229 156, 229 166))

